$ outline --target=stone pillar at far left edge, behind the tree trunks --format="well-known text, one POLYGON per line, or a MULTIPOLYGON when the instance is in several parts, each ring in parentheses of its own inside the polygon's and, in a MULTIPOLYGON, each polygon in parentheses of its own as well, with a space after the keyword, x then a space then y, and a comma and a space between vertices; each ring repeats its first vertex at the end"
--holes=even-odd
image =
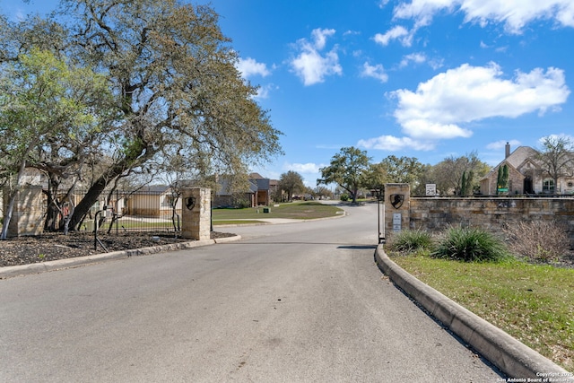
MULTIPOLYGON (((44 213, 46 213, 42 187, 19 187, 15 198, 7 236, 19 237, 42 234, 44 232, 44 213)), ((5 213, 10 202, 10 190, 7 187, 4 188, 3 202, 3 213, 5 213)))

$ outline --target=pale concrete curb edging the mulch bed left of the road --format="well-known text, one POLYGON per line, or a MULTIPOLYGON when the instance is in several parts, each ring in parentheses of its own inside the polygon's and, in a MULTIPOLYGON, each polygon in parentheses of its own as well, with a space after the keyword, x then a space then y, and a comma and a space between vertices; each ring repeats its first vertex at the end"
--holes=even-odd
POLYGON ((189 242, 171 243, 169 245, 152 246, 149 248, 135 248, 130 250, 112 251, 109 253, 94 254, 93 256, 74 257, 58 259, 57 261, 41 262, 30 265, 15 265, 0 267, 0 279, 11 278, 13 276, 25 274, 39 274, 47 271, 60 270, 79 265, 90 265, 109 261, 113 259, 121 259, 132 256, 142 256, 147 254, 156 254, 163 251, 181 250, 185 248, 198 248, 200 246, 213 245, 216 243, 231 242, 241 239, 241 236, 225 237, 219 239, 203 239, 192 240, 189 242))

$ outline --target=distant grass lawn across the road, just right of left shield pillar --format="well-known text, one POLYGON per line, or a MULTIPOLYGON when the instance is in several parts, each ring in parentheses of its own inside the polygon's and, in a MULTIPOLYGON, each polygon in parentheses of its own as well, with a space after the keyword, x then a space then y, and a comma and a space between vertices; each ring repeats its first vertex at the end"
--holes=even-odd
POLYGON ((213 224, 222 224, 222 222, 230 221, 240 222, 240 220, 265 220, 267 218, 311 220, 333 217, 343 213, 343 209, 334 205, 322 205, 318 202, 281 204, 266 208, 269 213, 263 213, 264 207, 262 206, 245 209, 213 209, 213 224))

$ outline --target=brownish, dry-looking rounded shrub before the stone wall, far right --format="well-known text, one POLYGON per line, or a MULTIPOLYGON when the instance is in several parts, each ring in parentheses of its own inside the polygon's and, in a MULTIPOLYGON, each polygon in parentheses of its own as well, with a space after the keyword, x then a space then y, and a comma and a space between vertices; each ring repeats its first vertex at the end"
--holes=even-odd
POLYGON ((549 221, 517 222, 507 226, 510 249, 531 262, 557 261, 570 251, 564 225, 549 221))

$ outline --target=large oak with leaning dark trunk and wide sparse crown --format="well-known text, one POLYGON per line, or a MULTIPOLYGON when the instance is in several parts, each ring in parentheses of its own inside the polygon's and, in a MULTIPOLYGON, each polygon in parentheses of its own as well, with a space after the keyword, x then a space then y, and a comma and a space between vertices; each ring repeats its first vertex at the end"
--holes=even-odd
POLYGON ((201 164, 202 174, 246 173, 281 152, 281 133, 254 100, 257 88, 241 78, 218 17, 209 6, 178 0, 62 0, 59 13, 30 24, 57 30, 57 39, 2 23, 4 61, 48 46, 105 76, 113 96, 113 118, 100 126, 109 133, 97 143, 100 158, 72 228, 118 178, 169 161, 173 148, 190 169, 201 164))

